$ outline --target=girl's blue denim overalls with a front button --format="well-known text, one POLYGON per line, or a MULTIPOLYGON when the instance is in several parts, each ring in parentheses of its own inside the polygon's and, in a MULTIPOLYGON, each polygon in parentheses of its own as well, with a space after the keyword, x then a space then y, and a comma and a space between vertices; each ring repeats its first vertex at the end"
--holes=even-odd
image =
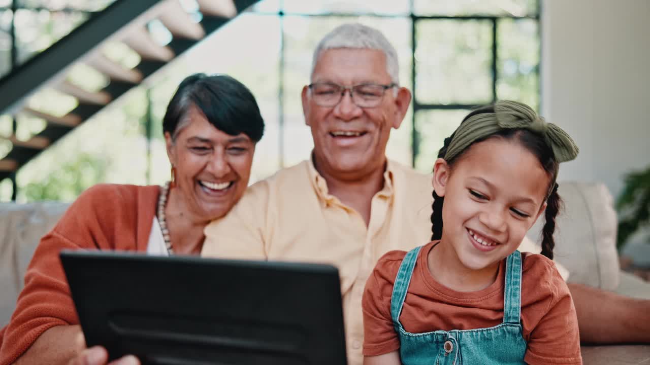
POLYGON ((400 338, 402 364, 525 364, 526 341, 520 321, 521 253, 515 251, 506 259, 503 323, 480 329, 408 333, 399 317, 420 248, 404 257, 391 297, 391 317, 400 338))

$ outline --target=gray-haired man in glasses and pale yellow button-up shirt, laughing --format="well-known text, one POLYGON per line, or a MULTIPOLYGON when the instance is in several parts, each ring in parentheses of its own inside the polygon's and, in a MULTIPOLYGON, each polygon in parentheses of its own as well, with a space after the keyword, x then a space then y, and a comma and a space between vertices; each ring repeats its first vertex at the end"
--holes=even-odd
MULTIPOLYGON (((311 84, 302 89, 311 158, 253 185, 205 229, 202 255, 208 257, 335 264, 350 364, 363 362, 361 296, 376 260, 430 240, 430 177, 385 157, 391 129, 400 126, 410 101, 383 34, 358 24, 334 29, 318 44, 311 84)), ((642 328, 650 320, 639 317, 649 303, 569 288, 582 340, 650 340, 642 328)))

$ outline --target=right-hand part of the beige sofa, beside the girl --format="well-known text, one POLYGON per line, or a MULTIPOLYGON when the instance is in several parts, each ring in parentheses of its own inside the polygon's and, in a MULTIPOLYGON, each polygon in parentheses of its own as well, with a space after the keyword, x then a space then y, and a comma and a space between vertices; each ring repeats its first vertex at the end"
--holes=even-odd
MULTIPOLYGON (((650 283, 621 271, 616 251, 614 199, 603 184, 560 182, 564 209, 556 218, 554 259, 569 270, 569 283, 579 283, 623 296, 650 299, 650 283)), ((541 242, 540 219, 528 238, 541 242)), ((598 305, 598 303, 593 303, 598 305)), ((647 364, 650 345, 582 345, 584 364, 647 364)))

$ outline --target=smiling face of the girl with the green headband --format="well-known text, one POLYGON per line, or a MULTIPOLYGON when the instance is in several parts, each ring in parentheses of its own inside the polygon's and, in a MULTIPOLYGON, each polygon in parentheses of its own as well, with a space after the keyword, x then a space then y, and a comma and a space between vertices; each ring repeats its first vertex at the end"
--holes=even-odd
POLYGON ((516 139, 477 142, 434 169, 434 190, 445 197, 441 244, 469 270, 496 269, 546 208, 551 177, 516 139))

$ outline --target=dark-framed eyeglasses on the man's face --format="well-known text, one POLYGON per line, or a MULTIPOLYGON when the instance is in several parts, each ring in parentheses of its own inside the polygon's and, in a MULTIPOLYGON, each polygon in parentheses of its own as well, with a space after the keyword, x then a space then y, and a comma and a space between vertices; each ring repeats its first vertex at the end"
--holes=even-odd
POLYGON ((350 92, 352 103, 361 108, 374 108, 382 103, 383 94, 389 88, 397 86, 396 84, 378 85, 378 84, 361 84, 354 86, 341 86, 330 83, 309 84, 307 87, 311 90, 311 97, 320 107, 334 107, 341 102, 345 91, 350 92))

